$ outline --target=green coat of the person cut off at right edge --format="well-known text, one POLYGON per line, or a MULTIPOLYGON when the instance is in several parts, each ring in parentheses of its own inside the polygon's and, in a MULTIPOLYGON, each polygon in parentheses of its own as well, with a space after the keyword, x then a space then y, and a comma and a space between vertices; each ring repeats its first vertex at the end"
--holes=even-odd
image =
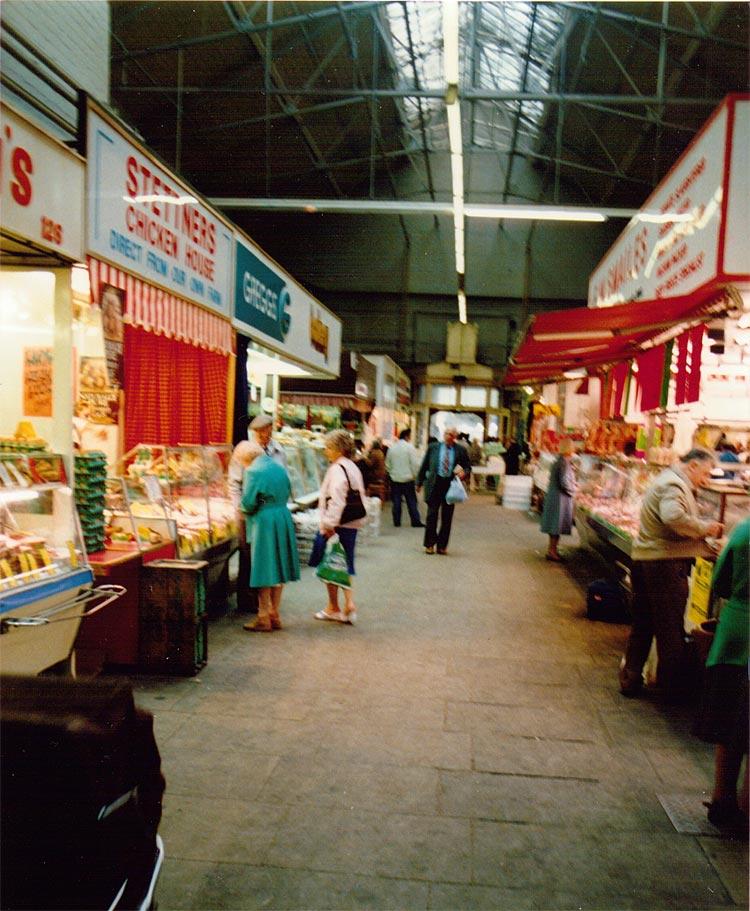
POLYGON ((750 620, 750 518, 737 524, 719 554, 711 590, 727 600, 719 614, 719 625, 706 666, 739 664, 744 667, 748 659, 750 620))

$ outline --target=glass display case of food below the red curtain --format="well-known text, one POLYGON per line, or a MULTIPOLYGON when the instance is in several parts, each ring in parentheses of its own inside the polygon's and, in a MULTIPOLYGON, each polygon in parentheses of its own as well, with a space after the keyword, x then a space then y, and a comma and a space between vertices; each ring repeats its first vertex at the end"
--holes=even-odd
POLYGON ((147 529, 160 519, 171 520, 182 558, 198 556, 235 537, 227 485, 231 455, 229 445, 141 444, 126 453, 123 475, 136 532, 139 524, 147 529))

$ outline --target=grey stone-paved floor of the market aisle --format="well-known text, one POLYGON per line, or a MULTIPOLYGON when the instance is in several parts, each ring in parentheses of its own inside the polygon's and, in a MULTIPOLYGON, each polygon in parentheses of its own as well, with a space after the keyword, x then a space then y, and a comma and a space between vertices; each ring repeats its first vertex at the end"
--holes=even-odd
POLYGON ((475 496, 448 556, 420 543, 384 515, 354 628, 313 620, 305 569, 282 632, 215 620, 198 677, 136 680, 161 911, 746 906, 746 850, 657 796, 700 807, 711 748, 689 711, 618 694, 627 628, 584 618, 536 522, 475 496))

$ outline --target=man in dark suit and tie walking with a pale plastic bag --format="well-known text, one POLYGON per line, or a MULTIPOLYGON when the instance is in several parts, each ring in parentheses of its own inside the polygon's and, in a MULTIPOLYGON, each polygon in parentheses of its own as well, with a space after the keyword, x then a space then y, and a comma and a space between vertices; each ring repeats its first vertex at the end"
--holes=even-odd
POLYGON ((445 502, 445 495, 454 476, 464 480, 471 474, 468 450, 465 446, 460 446, 456 442, 457 439, 456 428, 447 427, 442 443, 437 441, 427 447, 417 475, 417 493, 424 485, 424 500, 427 504, 427 524, 424 532, 426 554, 434 554, 436 545, 439 554, 448 553, 448 539, 455 506, 445 502))

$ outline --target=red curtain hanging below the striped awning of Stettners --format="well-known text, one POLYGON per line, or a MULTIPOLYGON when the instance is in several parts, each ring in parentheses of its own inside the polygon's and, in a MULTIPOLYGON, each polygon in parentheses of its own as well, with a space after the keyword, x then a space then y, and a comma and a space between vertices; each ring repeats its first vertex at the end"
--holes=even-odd
POLYGON ((229 358, 125 326, 125 449, 226 439, 229 358))

